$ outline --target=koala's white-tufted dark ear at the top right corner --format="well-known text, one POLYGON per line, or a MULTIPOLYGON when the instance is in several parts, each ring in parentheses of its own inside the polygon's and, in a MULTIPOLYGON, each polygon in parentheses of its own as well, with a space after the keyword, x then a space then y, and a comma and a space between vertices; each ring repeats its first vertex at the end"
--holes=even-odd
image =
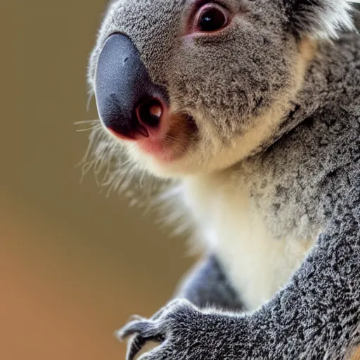
POLYGON ((281 0, 290 27, 297 36, 316 39, 338 37, 353 30, 352 5, 347 0, 281 0))

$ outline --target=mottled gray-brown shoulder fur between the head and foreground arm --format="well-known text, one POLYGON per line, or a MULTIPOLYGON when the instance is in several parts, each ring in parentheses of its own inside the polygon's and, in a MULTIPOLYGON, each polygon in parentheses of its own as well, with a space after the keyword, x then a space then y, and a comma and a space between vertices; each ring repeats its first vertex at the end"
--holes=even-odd
POLYGON ((323 45, 290 119, 281 127, 300 124, 231 169, 251 188, 278 237, 292 231, 300 238, 311 237, 347 192, 338 172, 360 155, 359 65, 358 35, 344 35, 335 47, 323 45))

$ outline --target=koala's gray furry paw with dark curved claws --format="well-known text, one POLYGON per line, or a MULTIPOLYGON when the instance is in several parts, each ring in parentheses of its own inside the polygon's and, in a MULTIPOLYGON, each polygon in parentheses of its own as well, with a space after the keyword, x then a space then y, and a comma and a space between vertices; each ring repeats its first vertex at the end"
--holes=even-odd
POLYGON ((127 360, 133 360, 148 341, 160 344, 139 360, 214 359, 208 338, 216 336, 216 330, 207 316, 188 300, 174 300, 149 320, 129 322, 117 335, 120 340, 135 335, 129 342, 127 360))

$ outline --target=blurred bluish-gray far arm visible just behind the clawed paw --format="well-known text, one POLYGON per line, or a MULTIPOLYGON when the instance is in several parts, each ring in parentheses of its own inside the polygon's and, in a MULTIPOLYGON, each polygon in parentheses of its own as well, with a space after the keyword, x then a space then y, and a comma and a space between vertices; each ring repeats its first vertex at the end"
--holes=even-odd
POLYGON ((190 300, 197 307, 242 310, 240 298, 215 255, 207 256, 181 281, 175 297, 190 300))

